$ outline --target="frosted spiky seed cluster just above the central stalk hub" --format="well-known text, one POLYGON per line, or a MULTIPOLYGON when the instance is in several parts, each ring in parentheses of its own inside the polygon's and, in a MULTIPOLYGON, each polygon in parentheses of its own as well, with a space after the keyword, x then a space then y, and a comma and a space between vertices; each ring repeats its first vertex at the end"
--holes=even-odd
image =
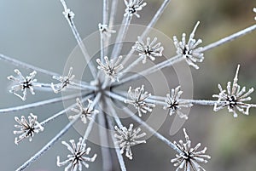
POLYGON ((102 64, 102 61, 100 59, 97 59, 96 62, 98 63, 98 69, 105 72, 105 74, 111 79, 112 82, 119 82, 119 71, 121 71, 124 66, 120 64, 120 61, 122 60, 122 56, 119 56, 116 61, 114 60, 108 60, 108 56, 104 57, 105 59, 105 65, 102 64))

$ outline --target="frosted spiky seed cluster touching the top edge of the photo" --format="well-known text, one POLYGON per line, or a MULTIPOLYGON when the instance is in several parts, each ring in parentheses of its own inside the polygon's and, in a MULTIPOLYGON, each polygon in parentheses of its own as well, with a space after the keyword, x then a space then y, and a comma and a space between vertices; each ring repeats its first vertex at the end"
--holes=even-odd
POLYGON ((137 18, 140 18, 140 15, 137 14, 137 11, 140 11, 147 5, 147 3, 143 3, 143 0, 127 0, 125 1, 126 9, 124 16, 132 16, 135 14, 137 18))

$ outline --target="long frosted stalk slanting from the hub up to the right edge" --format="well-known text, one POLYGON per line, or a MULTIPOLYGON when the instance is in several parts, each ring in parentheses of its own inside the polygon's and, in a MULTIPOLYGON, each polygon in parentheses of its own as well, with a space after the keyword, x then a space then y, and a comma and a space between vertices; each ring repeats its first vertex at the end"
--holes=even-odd
MULTIPOLYGON (((201 50, 201 52, 205 52, 205 51, 207 51, 207 50, 209 50, 209 49, 216 48, 216 47, 218 47, 218 46, 221 45, 221 44, 224 44, 224 43, 228 43, 228 42, 230 42, 230 41, 233 41, 233 40, 235 40, 236 38, 241 37, 241 36, 244 36, 244 35, 246 35, 247 33, 250 33, 250 32, 252 32, 252 31, 254 31, 254 30, 256 30, 256 25, 249 26, 249 27, 247 27, 246 29, 243 29, 242 31, 238 31, 238 32, 236 32, 236 33, 234 33, 234 34, 232 34, 232 35, 230 35, 230 36, 228 36, 228 37, 224 37, 223 39, 220 39, 219 41, 217 41, 217 42, 215 42, 215 43, 211 43, 211 44, 209 44, 209 45, 203 47, 202 50, 201 50)), ((146 69, 146 70, 144 70, 144 71, 141 71, 141 72, 139 72, 139 73, 137 73, 137 74, 134 74, 134 75, 132 75, 131 77, 125 77, 125 78, 124 78, 123 80, 121 80, 119 83, 114 83, 113 86, 114 86, 114 87, 115 87, 115 86, 119 86, 119 85, 121 85, 121 84, 123 84, 123 83, 128 83, 128 82, 131 82, 132 80, 136 80, 136 79, 139 79, 139 78, 141 78, 141 77, 147 76, 148 74, 151 74, 151 73, 153 73, 153 72, 155 72, 155 71, 159 71, 159 70, 165 68, 166 66, 172 66, 172 65, 174 65, 174 64, 176 64, 177 62, 182 61, 182 60, 184 60, 183 55, 178 55, 178 54, 177 54, 176 56, 172 57, 171 59, 165 60, 165 61, 159 63, 159 64, 156 65, 156 66, 153 66, 153 67, 151 67, 151 68, 148 68, 148 69, 146 69)))

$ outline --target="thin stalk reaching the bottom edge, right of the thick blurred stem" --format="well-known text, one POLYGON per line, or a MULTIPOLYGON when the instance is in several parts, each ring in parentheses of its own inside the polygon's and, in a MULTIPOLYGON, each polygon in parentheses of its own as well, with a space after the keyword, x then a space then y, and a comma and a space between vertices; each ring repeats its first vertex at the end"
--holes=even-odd
MULTIPOLYGON (((114 131, 113 130, 113 120, 109 116, 108 116, 108 127, 112 131, 114 131)), ((119 160, 119 165, 120 165, 121 171, 126 171, 124 158, 123 158, 122 154, 120 153, 119 145, 118 145, 118 143, 116 143, 117 140, 114 137, 113 133, 111 133, 111 138, 112 138, 112 141, 113 141, 113 146, 114 146, 114 150, 116 152, 116 156, 118 157, 118 160, 119 160)))

